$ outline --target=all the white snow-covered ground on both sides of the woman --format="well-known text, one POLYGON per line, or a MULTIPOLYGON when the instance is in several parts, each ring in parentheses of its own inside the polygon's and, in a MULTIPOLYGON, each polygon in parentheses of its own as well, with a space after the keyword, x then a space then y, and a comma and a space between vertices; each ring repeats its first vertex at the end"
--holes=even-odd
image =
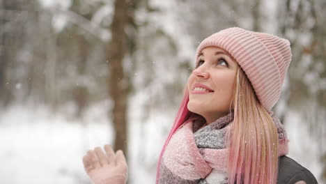
MULTIPOLYGON (((133 101, 137 104, 137 98, 133 101)), ((13 105, 2 109, 0 183, 90 183, 81 158, 89 148, 112 143, 114 134, 105 116, 107 109, 105 104, 94 105, 83 122, 69 119, 67 114, 53 114, 41 106, 13 105)), ((130 183, 154 183, 156 160, 171 125, 167 121, 173 117, 150 112, 148 120, 142 122, 140 111, 138 108, 130 113, 130 183)), ((320 178, 316 142, 309 137, 300 116, 289 113, 286 118, 291 118, 286 126, 290 157, 320 178)))

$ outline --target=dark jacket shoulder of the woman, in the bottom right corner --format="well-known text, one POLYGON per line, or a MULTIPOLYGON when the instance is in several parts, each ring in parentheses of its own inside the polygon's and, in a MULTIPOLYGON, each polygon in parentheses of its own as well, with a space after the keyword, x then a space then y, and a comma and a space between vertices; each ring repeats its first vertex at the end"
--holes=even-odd
POLYGON ((311 172, 287 156, 279 158, 279 176, 277 184, 295 184, 297 181, 305 181, 306 184, 317 184, 317 180, 311 172))

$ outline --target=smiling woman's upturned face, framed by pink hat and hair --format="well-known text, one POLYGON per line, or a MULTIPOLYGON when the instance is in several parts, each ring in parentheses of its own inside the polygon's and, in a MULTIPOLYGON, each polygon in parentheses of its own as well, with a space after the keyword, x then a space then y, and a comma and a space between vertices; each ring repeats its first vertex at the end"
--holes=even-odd
POLYGON ((224 49, 205 47, 187 83, 188 109, 207 123, 228 114, 238 63, 224 49))

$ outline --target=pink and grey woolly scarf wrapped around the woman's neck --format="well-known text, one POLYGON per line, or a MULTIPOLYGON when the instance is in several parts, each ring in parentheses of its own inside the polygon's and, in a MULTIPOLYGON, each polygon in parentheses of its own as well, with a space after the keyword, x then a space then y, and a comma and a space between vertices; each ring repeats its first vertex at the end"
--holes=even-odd
MULTIPOLYGON (((288 153, 284 126, 273 118, 279 133, 279 155, 288 153)), ((160 164, 159 183, 227 183, 227 150, 224 137, 233 121, 228 114, 201 128, 191 120, 171 137, 160 164)))

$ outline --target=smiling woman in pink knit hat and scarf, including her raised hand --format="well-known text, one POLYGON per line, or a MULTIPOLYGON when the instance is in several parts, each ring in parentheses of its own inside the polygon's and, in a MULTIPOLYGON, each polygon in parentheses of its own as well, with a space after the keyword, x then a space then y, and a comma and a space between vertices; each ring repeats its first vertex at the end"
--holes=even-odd
MULTIPOLYGON (((270 111, 290 60, 288 40, 267 33, 234 27, 205 38, 162 149, 156 183, 317 183, 284 156, 286 131, 270 111)), ((105 150, 107 155, 100 148, 88 151, 86 172, 95 184, 124 183, 123 153, 105 150)))

